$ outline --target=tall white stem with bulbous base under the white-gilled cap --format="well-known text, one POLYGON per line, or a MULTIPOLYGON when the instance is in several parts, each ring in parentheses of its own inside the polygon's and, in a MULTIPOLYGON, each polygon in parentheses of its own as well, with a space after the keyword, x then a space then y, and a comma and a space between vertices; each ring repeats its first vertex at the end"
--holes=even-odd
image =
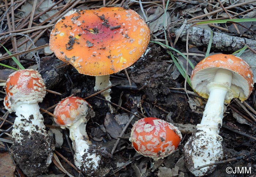
POLYGON ((223 158, 222 137, 219 129, 222 126, 224 100, 230 89, 232 73, 218 69, 214 81, 207 85, 209 98, 197 131, 184 146, 185 162, 195 176, 210 174, 215 166, 194 170, 199 166, 220 161, 223 158))

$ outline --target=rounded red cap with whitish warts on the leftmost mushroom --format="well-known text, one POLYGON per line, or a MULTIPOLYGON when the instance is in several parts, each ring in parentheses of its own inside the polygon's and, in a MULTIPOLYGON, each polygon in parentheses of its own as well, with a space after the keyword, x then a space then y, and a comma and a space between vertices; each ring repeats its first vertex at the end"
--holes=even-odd
POLYGON ((5 92, 10 108, 18 101, 42 102, 46 87, 41 75, 33 69, 18 70, 8 77, 5 92))

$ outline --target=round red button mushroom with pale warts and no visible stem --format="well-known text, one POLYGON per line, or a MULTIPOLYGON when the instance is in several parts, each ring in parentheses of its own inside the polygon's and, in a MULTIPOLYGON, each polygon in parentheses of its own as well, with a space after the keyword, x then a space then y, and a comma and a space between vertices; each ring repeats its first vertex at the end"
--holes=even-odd
POLYGON ((132 127, 130 141, 134 149, 155 160, 164 158, 177 149, 181 132, 173 124, 157 118, 143 118, 132 127))

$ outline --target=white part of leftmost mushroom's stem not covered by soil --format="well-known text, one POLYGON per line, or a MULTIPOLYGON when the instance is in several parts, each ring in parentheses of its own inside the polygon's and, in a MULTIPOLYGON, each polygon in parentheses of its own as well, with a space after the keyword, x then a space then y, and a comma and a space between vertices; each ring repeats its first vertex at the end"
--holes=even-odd
MULTIPOLYGON (((45 137, 49 136, 44 125, 44 118, 39 111, 38 103, 28 104, 18 101, 14 105, 13 109, 17 115, 14 121, 14 128, 12 129, 12 139, 14 142, 22 143, 21 141, 24 139, 24 134, 22 134, 22 131, 29 132, 29 135, 37 132, 45 137)), ((50 151, 50 148, 52 147, 49 146, 47 151, 50 151)), ((52 155, 52 151, 50 151, 46 160, 47 166, 52 162, 52 155)))

